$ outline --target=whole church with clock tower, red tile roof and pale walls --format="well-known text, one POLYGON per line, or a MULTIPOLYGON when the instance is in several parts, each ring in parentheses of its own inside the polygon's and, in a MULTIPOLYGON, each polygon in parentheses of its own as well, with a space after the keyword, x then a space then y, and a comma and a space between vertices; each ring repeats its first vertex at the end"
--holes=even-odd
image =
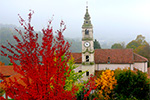
POLYGON ((72 53, 75 64, 79 67, 76 72, 86 71, 83 80, 87 80, 90 74, 100 70, 117 68, 139 69, 147 72, 148 60, 133 52, 133 49, 95 49, 93 38, 93 26, 88 13, 88 6, 82 25, 82 52, 72 53))

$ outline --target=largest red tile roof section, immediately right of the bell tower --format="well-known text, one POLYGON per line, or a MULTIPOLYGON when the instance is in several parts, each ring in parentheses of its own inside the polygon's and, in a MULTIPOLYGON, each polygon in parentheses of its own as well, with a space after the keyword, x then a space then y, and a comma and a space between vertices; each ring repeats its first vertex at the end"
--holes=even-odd
POLYGON ((94 59, 95 63, 108 63, 108 59, 111 64, 134 62, 132 49, 96 49, 94 59))

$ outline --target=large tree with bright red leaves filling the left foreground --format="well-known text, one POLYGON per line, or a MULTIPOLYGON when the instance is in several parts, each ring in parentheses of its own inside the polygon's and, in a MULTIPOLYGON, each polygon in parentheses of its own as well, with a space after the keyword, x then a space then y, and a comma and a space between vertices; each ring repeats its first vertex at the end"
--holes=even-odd
POLYGON ((15 100, 72 100, 75 98, 77 88, 65 90, 65 80, 70 71, 67 62, 71 57, 69 52, 70 44, 64 40, 62 33, 66 29, 61 21, 60 29, 53 35, 51 21, 46 29, 42 29, 42 45, 38 44, 38 34, 31 26, 33 11, 28 15, 28 23, 19 15, 20 24, 25 32, 16 31, 21 36, 13 36, 17 44, 10 47, 1 45, 3 49, 9 51, 8 55, 1 51, 1 55, 8 56, 13 63, 14 70, 20 75, 19 79, 9 82, 4 80, 4 90, 6 94, 15 100), (21 66, 15 62, 19 61, 21 66))

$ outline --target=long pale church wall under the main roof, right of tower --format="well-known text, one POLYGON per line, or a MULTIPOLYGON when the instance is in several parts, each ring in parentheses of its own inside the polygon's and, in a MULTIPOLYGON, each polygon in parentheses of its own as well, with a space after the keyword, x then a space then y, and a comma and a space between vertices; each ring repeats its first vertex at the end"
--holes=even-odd
POLYGON ((105 69, 115 70, 117 68, 124 69, 128 67, 131 70, 133 70, 133 64, 96 64, 95 70, 105 70, 105 69))

